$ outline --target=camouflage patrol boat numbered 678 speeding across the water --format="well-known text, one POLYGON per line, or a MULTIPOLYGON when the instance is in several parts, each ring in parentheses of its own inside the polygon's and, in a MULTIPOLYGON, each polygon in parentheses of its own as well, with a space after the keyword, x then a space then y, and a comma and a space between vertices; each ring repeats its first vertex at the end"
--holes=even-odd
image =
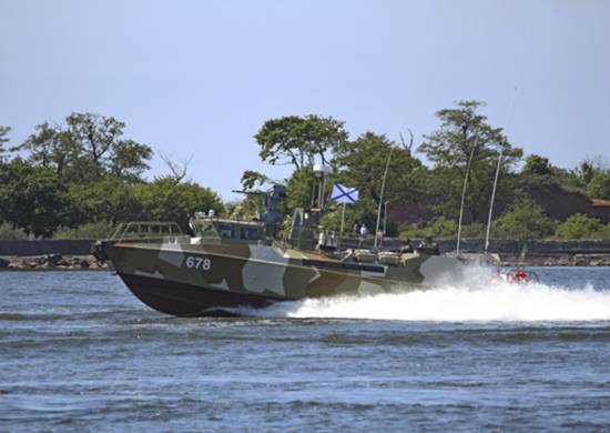
POLYGON ((109 260, 143 303, 176 316, 223 315, 236 306, 304 298, 420 290, 461 271, 459 260, 434 251, 342 246, 336 233, 318 225, 322 199, 317 208, 297 209, 288 235, 279 236, 286 189, 276 184, 260 195, 265 212, 257 221, 200 213, 190 221, 190 234, 175 223, 132 222, 98 242, 94 254, 109 260))

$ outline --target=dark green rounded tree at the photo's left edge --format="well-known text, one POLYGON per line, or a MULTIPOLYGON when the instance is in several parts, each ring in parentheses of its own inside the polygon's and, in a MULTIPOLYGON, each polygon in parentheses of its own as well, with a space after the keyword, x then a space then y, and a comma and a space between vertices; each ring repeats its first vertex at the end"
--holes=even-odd
POLYGON ((61 222, 65 191, 55 172, 20 158, 0 165, 0 220, 37 236, 50 236, 61 222))

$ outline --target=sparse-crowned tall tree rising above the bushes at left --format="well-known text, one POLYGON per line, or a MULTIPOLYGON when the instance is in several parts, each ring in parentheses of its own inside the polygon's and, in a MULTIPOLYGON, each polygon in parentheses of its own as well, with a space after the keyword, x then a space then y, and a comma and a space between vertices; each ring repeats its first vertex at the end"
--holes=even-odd
POLYGON ((17 149, 29 151, 30 162, 53 169, 65 182, 92 182, 105 175, 139 182, 149 168, 145 161, 152 158, 152 149, 123 139, 124 128, 114 118, 72 113, 65 125, 38 125, 17 149))

